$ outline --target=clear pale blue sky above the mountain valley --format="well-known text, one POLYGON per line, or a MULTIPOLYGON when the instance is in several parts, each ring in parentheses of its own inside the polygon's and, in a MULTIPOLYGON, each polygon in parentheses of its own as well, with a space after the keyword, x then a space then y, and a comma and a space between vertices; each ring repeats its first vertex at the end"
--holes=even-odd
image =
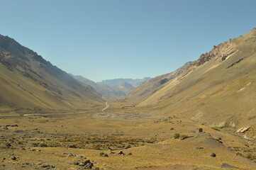
POLYGON ((256 27, 252 0, 0 0, 0 34, 93 81, 156 77, 256 27))

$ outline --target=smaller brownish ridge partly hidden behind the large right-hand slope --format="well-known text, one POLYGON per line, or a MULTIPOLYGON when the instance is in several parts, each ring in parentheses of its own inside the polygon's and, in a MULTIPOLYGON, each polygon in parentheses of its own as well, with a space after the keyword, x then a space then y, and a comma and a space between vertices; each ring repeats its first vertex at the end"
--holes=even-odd
POLYGON ((133 89, 133 91, 130 91, 130 94, 128 94, 126 100, 145 100, 145 98, 148 98, 157 90, 161 89, 161 86, 163 86, 163 84, 166 84, 168 81, 174 79, 179 74, 181 74, 184 71, 184 69, 187 69, 191 64, 193 64, 193 62, 187 62, 174 72, 164 74, 143 82, 143 84, 140 84, 137 88, 133 89))

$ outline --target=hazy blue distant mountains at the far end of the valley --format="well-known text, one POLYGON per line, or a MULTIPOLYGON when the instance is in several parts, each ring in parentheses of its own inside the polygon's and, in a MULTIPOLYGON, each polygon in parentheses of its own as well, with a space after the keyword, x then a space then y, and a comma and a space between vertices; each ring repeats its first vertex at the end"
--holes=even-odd
POLYGON ((107 98, 122 98, 123 96, 126 96, 130 91, 132 91, 136 86, 138 86, 138 84, 141 84, 144 81, 150 79, 149 77, 145 77, 144 79, 108 79, 95 83, 94 81, 91 81, 82 76, 72 75, 72 77, 84 84, 89 84, 96 91, 107 98))

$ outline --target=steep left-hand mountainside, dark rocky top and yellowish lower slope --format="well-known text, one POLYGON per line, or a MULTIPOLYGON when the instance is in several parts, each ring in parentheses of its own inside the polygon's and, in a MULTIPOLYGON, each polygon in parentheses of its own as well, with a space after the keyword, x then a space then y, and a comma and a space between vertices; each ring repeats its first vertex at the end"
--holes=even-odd
POLYGON ((86 109, 103 106, 101 94, 0 35, 0 109, 86 109))

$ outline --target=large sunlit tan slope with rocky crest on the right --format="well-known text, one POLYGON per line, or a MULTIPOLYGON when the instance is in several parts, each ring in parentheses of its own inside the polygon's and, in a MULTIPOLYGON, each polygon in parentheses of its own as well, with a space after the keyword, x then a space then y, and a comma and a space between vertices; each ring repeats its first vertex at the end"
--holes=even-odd
MULTIPOLYGON (((256 28, 201 55, 138 106, 215 126, 255 124, 256 28)), ((132 92, 133 93, 133 92, 132 92)))

